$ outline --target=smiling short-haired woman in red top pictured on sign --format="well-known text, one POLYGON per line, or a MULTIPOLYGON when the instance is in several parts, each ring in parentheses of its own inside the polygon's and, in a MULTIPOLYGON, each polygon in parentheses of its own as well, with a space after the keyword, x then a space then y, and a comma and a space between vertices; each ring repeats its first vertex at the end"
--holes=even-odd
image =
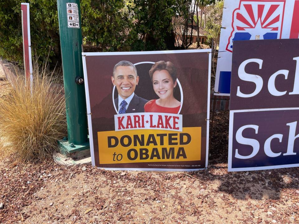
POLYGON ((157 100, 150 100, 144 105, 145 112, 178 114, 181 102, 174 98, 173 90, 177 85, 177 70, 170 61, 154 63, 149 71, 150 79, 157 100))

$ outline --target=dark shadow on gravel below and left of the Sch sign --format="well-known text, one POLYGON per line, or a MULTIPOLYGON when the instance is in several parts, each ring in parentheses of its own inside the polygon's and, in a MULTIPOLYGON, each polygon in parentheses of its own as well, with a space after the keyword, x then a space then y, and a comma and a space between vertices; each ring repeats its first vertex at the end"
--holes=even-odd
POLYGON ((227 172, 229 111, 219 111, 210 124, 209 166, 205 171, 190 173, 205 182, 219 181, 217 189, 236 199, 280 199, 281 192, 297 195, 299 168, 227 172))

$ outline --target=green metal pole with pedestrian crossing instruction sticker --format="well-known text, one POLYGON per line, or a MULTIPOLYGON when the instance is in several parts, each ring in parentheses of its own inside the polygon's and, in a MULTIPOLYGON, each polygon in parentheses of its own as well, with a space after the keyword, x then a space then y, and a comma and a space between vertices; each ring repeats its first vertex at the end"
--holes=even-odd
POLYGON ((83 78, 78 82, 83 77, 80 1, 57 0, 57 8, 68 127, 68 140, 60 146, 70 153, 89 147, 83 78))

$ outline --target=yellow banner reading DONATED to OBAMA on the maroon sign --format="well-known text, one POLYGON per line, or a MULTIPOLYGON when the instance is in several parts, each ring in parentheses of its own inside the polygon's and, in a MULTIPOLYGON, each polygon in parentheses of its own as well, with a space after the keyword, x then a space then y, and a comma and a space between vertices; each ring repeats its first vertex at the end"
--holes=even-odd
POLYGON ((198 161, 201 127, 98 132, 100 164, 198 161))

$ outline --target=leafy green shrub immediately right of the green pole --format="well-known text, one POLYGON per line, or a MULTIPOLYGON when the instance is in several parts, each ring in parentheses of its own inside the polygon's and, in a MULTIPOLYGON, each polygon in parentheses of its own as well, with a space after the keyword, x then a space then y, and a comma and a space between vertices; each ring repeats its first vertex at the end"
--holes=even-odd
POLYGON ((81 0, 83 40, 99 51, 130 50, 133 23, 124 1, 81 0))

